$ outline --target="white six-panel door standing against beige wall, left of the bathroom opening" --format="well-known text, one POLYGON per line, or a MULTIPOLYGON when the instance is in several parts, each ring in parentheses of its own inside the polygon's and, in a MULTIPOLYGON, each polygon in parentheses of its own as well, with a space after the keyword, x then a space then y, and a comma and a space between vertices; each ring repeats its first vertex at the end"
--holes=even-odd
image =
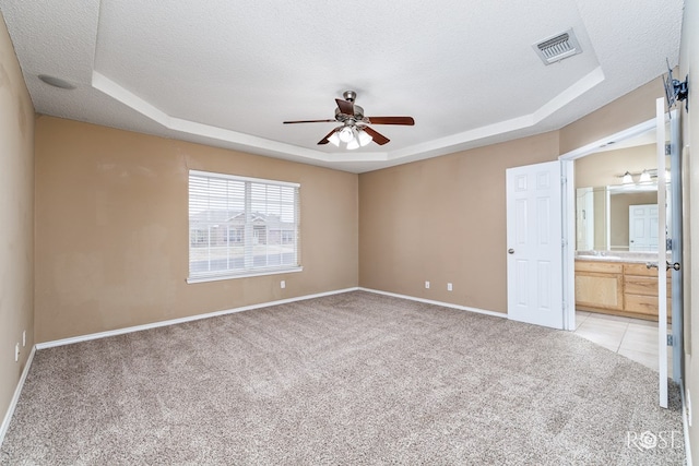
POLYGON ((509 168, 508 318, 564 327, 561 164, 509 168))

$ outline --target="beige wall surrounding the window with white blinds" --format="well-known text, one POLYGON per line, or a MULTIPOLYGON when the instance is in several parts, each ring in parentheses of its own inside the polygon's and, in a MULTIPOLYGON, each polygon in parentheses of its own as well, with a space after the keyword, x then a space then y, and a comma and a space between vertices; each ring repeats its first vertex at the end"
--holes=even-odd
POLYGON ((36 339, 356 287, 357 204, 353 174, 39 117, 36 339), (299 182, 304 271, 188 285, 188 169, 299 182))

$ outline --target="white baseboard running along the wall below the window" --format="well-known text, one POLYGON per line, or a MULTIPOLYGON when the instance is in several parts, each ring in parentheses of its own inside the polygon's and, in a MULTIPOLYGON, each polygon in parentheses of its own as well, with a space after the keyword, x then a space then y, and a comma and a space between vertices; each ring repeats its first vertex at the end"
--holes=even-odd
POLYGON ((337 289, 333 291, 318 292, 315 295, 299 296, 296 298, 280 299, 277 301, 262 302, 259 304, 244 306, 241 308, 233 308, 233 309, 225 309, 223 311, 208 312, 205 314, 189 315, 187 318, 170 319, 167 321, 153 322, 150 324, 110 330, 107 332, 98 332, 98 333, 91 333, 87 335, 72 336, 70 338, 61 338, 61 339, 55 339, 51 342, 37 343, 36 349, 46 349, 46 348, 54 348, 56 346, 72 345, 74 343, 88 342, 91 339, 98 339, 98 338, 107 338, 109 336, 123 335, 125 333, 141 332, 144 330, 157 328, 161 326, 181 324, 185 322, 192 322, 201 319, 210 319, 218 315, 226 315, 226 314, 233 314, 236 312, 250 311, 252 309, 269 308, 271 306, 286 304, 288 302, 305 301, 308 299, 320 298, 323 296, 340 295, 342 292, 356 291, 357 289, 359 288, 354 287, 354 288, 337 289))

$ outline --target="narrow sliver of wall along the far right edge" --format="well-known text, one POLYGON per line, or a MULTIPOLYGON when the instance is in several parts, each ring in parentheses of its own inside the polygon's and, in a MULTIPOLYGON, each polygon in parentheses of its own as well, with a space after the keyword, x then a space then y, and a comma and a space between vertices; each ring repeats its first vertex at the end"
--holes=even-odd
POLYGON ((691 151, 691 141, 699 141, 699 94, 696 85, 699 75, 699 2, 685 0, 683 21, 682 48, 679 53, 679 73, 676 77, 682 81, 689 74, 689 109, 684 111, 683 105, 683 144, 684 144, 684 289, 685 289, 685 390, 690 397, 692 426, 689 428, 689 444, 692 461, 699 464, 699 358, 695 358, 694 349, 699 343, 699 272, 694 270, 699 264, 699 246, 694 244, 695 235, 699 231, 699 150, 691 151), (692 79, 694 76, 694 79, 692 79), (694 86, 694 87, 692 87, 694 86), (694 152, 694 154, 690 154, 694 152), (694 158, 692 158, 694 156, 694 158))

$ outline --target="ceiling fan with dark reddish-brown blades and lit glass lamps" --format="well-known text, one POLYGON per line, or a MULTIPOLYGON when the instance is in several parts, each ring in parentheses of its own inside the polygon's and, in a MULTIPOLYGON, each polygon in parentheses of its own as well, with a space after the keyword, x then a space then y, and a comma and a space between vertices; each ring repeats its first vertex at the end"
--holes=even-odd
POLYGON ((390 141, 383 134, 368 127, 368 124, 404 124, 411 127, 415 124, 415 120, 412 117, 366 117, 364 108, 354 104, 357 98, 356 92, 345 91, 342 96, 345 98, 344 100, 335 99, 337 108, 335 108, 335 118, 332 120, 284 121, 284 124, 339 121, 342 124, 329 132, 318 144, 331 143, 340 147, 340 143, 343 142, 347 144, 348 150, 365 146, 371 141, 379 145, 390 141))

